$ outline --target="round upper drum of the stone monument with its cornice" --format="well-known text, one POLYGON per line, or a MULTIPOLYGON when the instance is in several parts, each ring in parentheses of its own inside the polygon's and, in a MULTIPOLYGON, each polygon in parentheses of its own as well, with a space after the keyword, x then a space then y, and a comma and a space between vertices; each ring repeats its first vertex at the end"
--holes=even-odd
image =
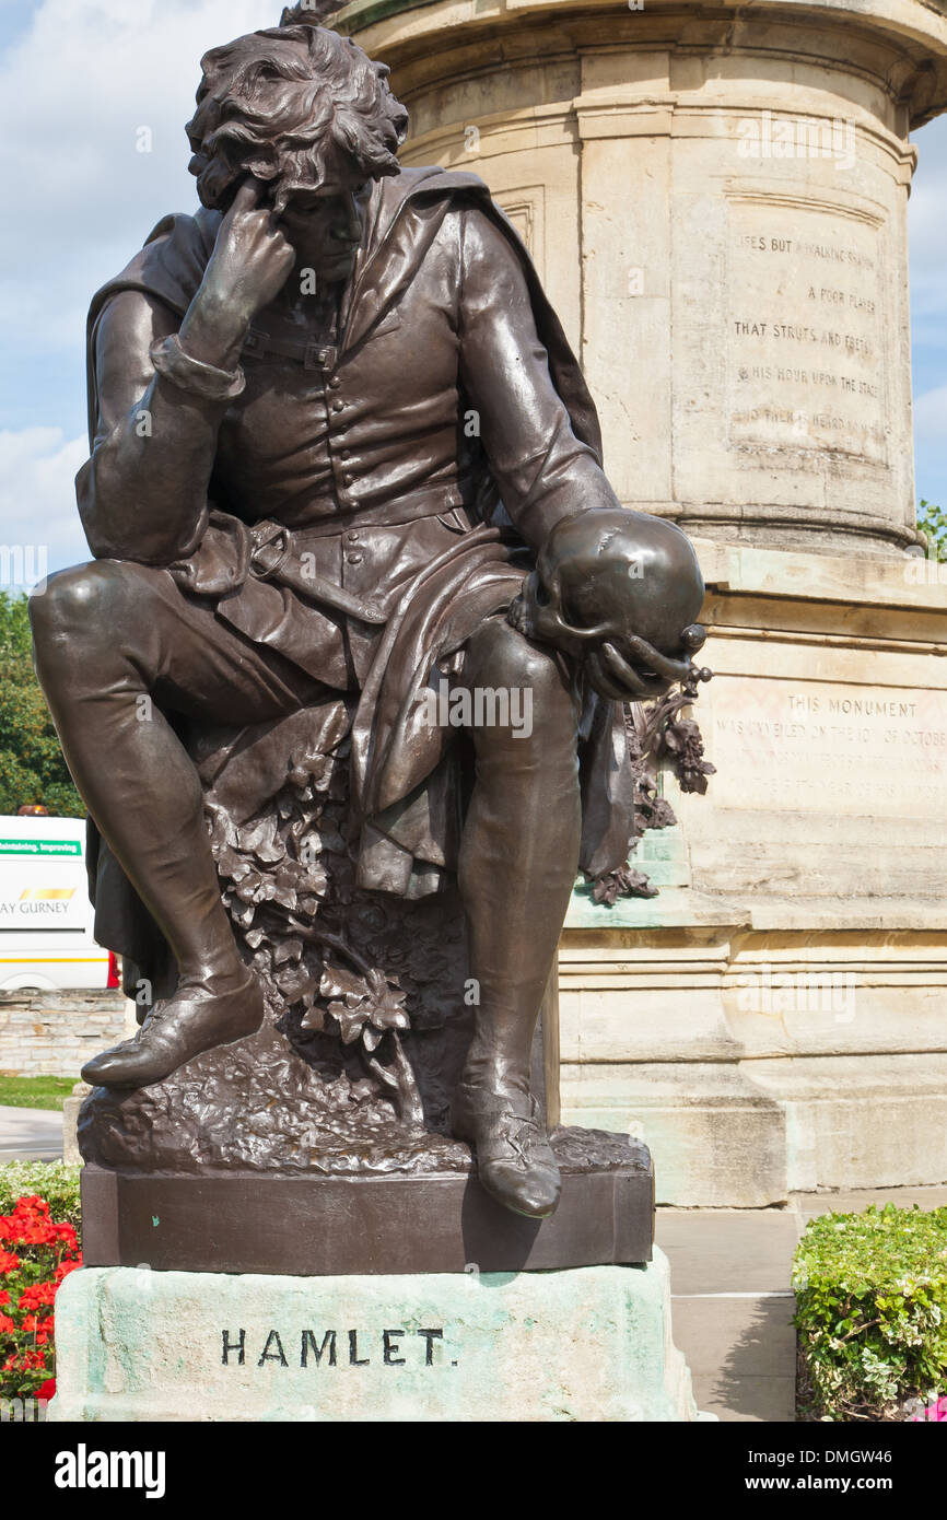
POLYGON ((742 543, 915 541, 909 131, 947 105, 921 0, 356 0, 410 164, 529 245, 628 505, 742 543))

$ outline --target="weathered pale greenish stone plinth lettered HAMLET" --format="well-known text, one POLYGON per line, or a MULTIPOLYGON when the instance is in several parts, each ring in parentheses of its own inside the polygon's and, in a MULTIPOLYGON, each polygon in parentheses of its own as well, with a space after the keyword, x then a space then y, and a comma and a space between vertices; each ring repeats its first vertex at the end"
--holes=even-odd
POLYGON ((84 1268, 49 1420, 686 1421, 667 1262, 252 1277, 84 1268))

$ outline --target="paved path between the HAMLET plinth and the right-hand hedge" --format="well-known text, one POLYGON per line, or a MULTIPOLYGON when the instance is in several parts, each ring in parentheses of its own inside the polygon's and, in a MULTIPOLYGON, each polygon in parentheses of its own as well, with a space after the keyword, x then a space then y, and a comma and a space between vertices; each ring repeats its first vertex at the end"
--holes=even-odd
POLYGON ((727 1421, 795 1418, 792 1254, 815 1214, 868 1204, 947 1204, 947 1187, 797 1193, 787 1208, 660 1208, 655 1237, 670 1260, 673 1341, 698 1409, 727 1421))

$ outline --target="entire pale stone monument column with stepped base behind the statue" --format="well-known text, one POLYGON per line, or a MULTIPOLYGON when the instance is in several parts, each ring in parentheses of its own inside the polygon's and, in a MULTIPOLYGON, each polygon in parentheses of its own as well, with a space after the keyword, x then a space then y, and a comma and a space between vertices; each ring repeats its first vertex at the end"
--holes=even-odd
MULTIPOLYGON (((947 1176, 947 585, 914 527, 923 0, 356 0, 404 161, 486 179, 600 410, 620 499, 701 556, 707 798, 581 891, 564 1117, 629 1126, 658 1199, 947 1176)), ((669 795, 673 790, 667 783, 669 795)))

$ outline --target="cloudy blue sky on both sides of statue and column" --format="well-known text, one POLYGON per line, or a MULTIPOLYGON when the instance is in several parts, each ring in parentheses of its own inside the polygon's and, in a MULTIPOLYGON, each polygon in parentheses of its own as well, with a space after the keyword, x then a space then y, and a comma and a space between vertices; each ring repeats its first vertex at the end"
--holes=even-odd
MULTIPOLYGON (((210 46, 281 0, 0 0, 0 514, 5 543, 88 558, 85 310, 169 210, 192 210, 182 123, 210 46), (150 152, 140 152, 141 128, 150 152), (17 214, 9 208, 17 207, 17 214)), ((947 506, 947 119, 915 137, 911 277, 918 496, 947 506)))

